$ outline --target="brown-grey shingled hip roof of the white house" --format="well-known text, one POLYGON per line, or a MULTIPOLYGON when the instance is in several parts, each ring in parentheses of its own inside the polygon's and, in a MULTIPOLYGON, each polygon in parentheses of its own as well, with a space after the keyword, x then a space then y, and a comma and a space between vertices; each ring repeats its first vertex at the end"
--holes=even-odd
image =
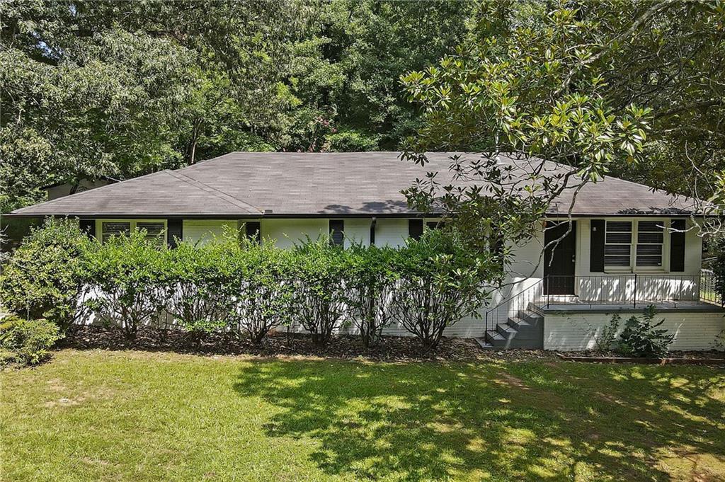
MULTIPOLYGON (((400 191, 438 171, 450 182, 452 153, 429 153, 425 167, 398 152, 233 152, 179 170, 124 180, 35 206, 11 215, 80 217, 355 217, 410 216, 400 191)), ((473 158, 479 154, 464 154, 473 158)), ((502 165, 521 161, 501 156, 502 165)), ((562 169, 547 163, 552 170, 562 169)), ((521 172, 524 172, 523 170, 521 172)), ((550 214, 566 214, 571 190, 550 214)), ((686 215, 692 200, 642 184, 606 177, 576 196, 572 214, 686 215)))

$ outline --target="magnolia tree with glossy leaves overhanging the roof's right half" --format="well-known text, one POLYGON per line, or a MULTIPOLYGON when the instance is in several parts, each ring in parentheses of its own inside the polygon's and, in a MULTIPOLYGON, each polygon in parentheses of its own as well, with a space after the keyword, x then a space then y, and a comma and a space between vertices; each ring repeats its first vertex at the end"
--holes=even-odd
POLYGON ((423 109, 405 159, 426 165, 426 151, 483 153, 454 156, 450 173, 419 179, 405 191, 409 203, 455 213, 462 241, 499 252, 505 264, 500 246, 529 238, 552 203, 566 216, 586 183, 613 163, 638 162, 650 111, 610 104, 604 79, 587 67, 597 46, 578 34, 590 28, 576 9, 556 8, 535 26, 471 36, 439 65, 403 76, 423 109))

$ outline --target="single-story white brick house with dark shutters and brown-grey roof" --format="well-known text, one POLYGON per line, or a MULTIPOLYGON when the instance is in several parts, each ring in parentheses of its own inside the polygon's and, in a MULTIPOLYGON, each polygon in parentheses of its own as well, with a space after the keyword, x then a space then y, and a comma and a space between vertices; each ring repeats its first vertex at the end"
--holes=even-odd
MULTIPOLYGON (((425 217, 402 189, 428 171, 449 173, 451 153, 428 154, 426 167, 397 152, 233 152, 178 170, 110 184, 10 213, 12 217, 77 217, 101 240, 134 228, 149 236, 207 242, 225 226, 264 242, 291 246, 319 233, 336 242, 401 246, 419 236, 425 217)), ((473 156, 476 154, 461 154, 473 156)), ((501 156, 502 166, 520 161, 501 156)), ((658 307, 676 334, 671 349, 711 349, 725 330, 713 280, 701 272, 702 239, 688 200, 606 177, 579 191, 571 210, 565 191, 537 236, 515 246, 509 283, 481 319, 461 320, 448 336, 484 346, 559 350, 594 348, 614 313, 658 307), (568 234, 566 234, 569 231, 568 234), (542 262, 548 241, 565 236, 542 262)), ((389 334, 405 334, 392 326, 389 334)))

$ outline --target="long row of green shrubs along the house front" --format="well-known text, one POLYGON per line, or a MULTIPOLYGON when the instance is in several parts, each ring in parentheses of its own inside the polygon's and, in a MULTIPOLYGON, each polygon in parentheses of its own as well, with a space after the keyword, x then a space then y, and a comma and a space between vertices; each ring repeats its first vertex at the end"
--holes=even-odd
POLYGON ((368 346, 397 323, 431 349, 444 328, 477 315, 488 294, 483 280, 495 266, 440 230, 402 249, 341 249, 326 239, 278 249, 236 233, 159 249, 144 234, 100 244, 75 223, 50 221, 4 267, 3 304, 63 330, 88 315, 104 317, 128 338, 163 312, 196 338, 228 330, 254 343, 294 323, 326 344, 336 328, 353 323, 368 346))

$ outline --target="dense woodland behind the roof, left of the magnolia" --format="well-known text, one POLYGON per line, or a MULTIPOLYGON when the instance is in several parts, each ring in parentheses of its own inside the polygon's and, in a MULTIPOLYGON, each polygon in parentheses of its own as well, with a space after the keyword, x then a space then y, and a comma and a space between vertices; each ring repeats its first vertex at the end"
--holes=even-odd
POLYGON ((234 150, 393 149, 399 76, 463 38, 463 2, 0 5, 0 212, 41 186, 234 150))

